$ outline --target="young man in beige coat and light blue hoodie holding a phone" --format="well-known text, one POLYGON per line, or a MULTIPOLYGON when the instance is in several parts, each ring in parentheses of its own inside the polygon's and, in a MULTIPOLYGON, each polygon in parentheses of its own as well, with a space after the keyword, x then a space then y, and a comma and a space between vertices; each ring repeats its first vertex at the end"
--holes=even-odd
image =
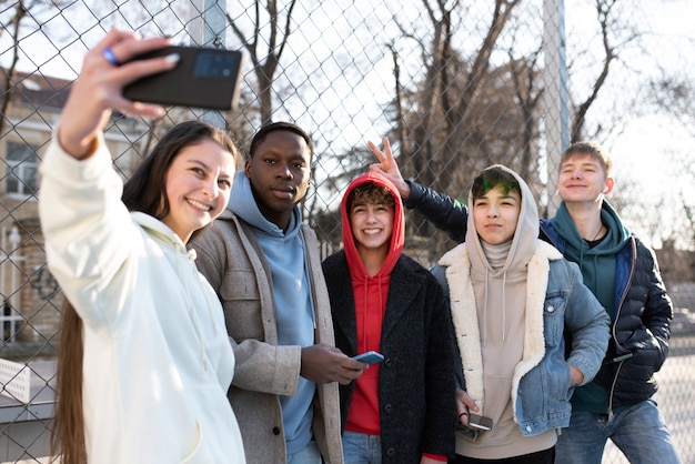
POLYGON ((226 211, 191 242, 224 307, 236 357, 229 399, 246 461, 340 464, 336 382, 350 383, 366 364, 334 346, 319 242, 298 206, 311 138, 271 123, 249 154, 226 211))

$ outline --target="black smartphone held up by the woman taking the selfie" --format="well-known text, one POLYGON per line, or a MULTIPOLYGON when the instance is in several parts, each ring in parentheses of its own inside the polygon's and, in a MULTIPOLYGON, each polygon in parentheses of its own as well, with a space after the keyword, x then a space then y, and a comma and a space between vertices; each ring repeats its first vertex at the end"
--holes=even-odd
POLYGON ((139 79, 123 89, 132 101, 228 111, 236 108, 243 54, 203 47, 168 47, 133 60, 179 53, 177 67, 139 79))

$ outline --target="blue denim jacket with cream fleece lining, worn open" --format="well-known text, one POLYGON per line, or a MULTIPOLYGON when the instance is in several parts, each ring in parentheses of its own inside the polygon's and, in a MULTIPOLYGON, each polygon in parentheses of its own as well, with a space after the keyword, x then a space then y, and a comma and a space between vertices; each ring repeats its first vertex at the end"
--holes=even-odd
MULTIPOLYGON (((484 392, 480 337, 469 336, 471 327, 477 327, 470 268, 467 250, 459 245, 442 256, 432 272, 452 305, 462 367, 456 375, 464 390, 477 390, 481 395, 484 392)), ((527 288, 543 286, 545 294, 527 292, 527 335, 511 392, 514 417, 524 435, 570 425, 570 399, 574 391, 570 386, 570 364, 582 371, 584 383, 590 382, 601 366, 610 337, 608 315, 582 283, 578 266, 538 240, 528 263, 527 288), (566 359, 565 327, 573 337, 566 359), (530 336, 532 333, 543 333, 544 340, 530 336)))

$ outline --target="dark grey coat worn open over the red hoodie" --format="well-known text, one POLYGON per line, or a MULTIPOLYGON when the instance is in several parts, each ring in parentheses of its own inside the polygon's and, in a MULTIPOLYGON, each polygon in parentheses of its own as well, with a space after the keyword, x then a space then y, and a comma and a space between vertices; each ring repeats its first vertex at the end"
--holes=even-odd
MULTIPOLYGON (((356 353, 355 304, 344 251, 323 262, 335 345, 356 353)), ((454 455, 454 343, 451 312, 432 274, 402 255, 391 275, 379 381, 382 462, 419 464, 422 453, 454 455)), ((341 385, 342 426, 354 382, 341 385)))

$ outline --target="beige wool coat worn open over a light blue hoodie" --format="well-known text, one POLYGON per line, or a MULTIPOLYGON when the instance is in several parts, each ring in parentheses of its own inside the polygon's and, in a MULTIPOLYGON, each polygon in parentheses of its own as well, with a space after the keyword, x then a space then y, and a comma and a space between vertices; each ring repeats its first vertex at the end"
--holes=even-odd
MULTIPOLYGON (((315 309, 315 343, 334 345, 331 306, 319 241, 302 225, 315 309)), ((279 346, 271 271, 251 228, 226 210, 191 241, 199 270, 224 309, 236 367, 229 400, 249 464, 285 463, 279 395, 295 393, 300 346, 279 346)), ((316 385, 313 434, 326 464, 342 464, 338 383, 316 385)))

